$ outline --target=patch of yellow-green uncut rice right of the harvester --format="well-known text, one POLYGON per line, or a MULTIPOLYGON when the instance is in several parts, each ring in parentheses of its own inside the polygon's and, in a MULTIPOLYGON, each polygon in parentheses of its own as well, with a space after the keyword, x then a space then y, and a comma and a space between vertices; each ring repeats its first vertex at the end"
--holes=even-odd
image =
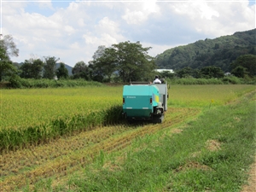
POLYGON ((252 90, 255 86, 250 84, 171 84, 168 105, 208 108, 224 105, 252 90))

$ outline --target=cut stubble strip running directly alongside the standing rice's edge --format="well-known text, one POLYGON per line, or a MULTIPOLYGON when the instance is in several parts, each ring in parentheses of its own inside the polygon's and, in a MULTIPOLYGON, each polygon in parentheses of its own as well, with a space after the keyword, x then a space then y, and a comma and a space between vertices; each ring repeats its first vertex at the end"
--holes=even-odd
POLYGON ((75 137, 60 138, 38 147, 31 146, 30 148, 3 154, 0 159, 0 165, 2 166, 0 175, 4 177, 11 175, 11 173, 22 172, 26 167, 34 166, 33 164, 44 165, 49 159, 54 160, 62 155, 73 153, 79 148, 90 147, 90 145, 100 143, 102 140, 117 135, 122 131, 125 131, 124 127, 103 127, 93 131, 82 132, 75 137))

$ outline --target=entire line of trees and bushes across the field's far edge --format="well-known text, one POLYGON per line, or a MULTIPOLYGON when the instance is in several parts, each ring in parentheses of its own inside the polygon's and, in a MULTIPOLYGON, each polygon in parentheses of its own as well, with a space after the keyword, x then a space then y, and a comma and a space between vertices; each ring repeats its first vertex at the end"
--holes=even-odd
MULTIPOLYGON (((56 63, 60 58, 44 56, 43 59, 30 58, 21 66, 15 65, 10 56, 18 56, 13 38, 4 36, 0 41, 0 81, 4 79, 85 79, 97 82, 130 82, 152 81, 157 66, 155 58, 148 55, 151 47, 143 48, 140 42, 130 41, 112 44, 110 47, 99 46, 92 60, 86 64, 79 61, 72 69, 73 75, 68 75, 65 63, 56 63)), ((218 45, 216 45, 218 49, 218 45)), ((157 59, 157 58, 156 58, 157 59)), ((240 55, 230 63, 230 73, 238 78, 253 79, 256 74, 256 55, 240 55)), ((159 73, 162 78, 195 78, 220 79, 224 77, 224 70, 217 66, 193 68, 189 66, 175 70, 175 73, 159 73)))

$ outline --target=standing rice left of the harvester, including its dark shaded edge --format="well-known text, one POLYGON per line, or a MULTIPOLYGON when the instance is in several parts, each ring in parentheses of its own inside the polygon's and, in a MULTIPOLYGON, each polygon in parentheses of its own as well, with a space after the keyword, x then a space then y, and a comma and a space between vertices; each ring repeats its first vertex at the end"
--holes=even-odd
POLYGON ((2 90, 0 151, 114 123, 121 101, 113 87, 2 90))

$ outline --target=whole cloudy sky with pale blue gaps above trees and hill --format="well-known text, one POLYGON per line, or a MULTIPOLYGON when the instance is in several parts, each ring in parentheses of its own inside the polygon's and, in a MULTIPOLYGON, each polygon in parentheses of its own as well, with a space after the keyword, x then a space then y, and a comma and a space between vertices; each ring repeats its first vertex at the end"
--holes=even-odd
POLYGON ((55 56, 74 67, 92 61, 99 46, 125 41, 139 41, 156 56, 256 26, 255 0, 0 1, 0 33, 20 50, 15 62, 55 56))

